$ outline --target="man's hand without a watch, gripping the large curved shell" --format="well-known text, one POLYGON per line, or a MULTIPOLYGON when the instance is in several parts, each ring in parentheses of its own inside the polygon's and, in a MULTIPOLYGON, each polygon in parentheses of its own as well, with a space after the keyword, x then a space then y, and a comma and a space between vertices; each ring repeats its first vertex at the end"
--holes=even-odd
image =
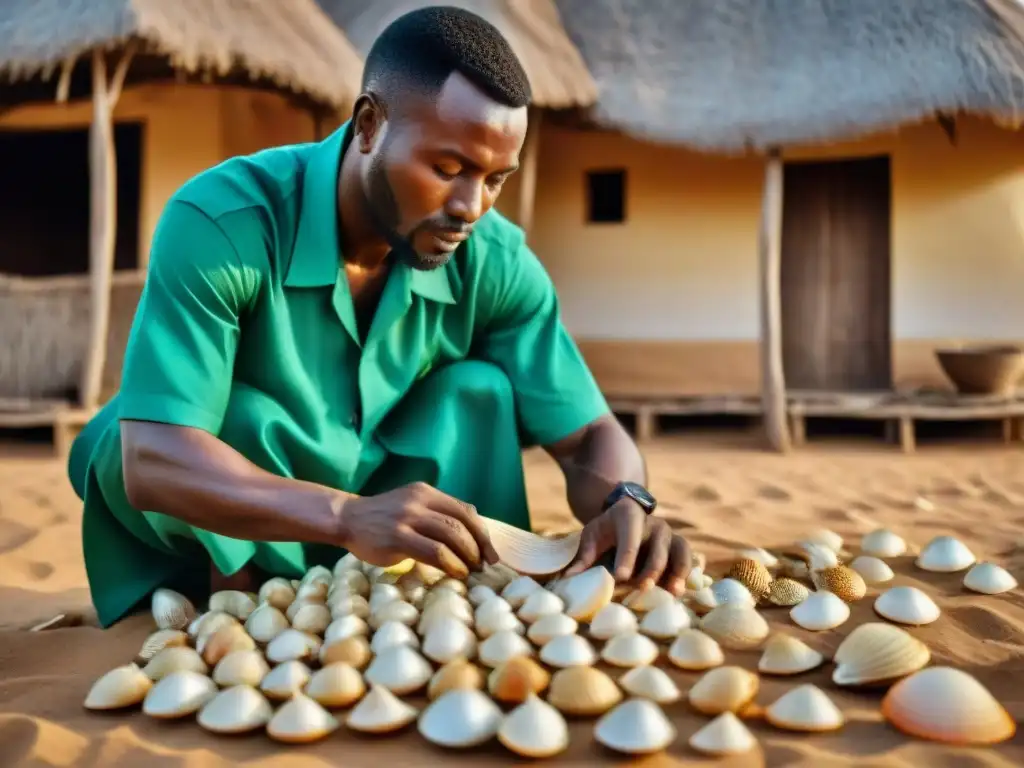
POLYGON ((341 546, 372 565, 412 557, 465 579, 482 566, 481 557, 498 562, 476 509, 425 482, 346 501, 339 526, 341 546))

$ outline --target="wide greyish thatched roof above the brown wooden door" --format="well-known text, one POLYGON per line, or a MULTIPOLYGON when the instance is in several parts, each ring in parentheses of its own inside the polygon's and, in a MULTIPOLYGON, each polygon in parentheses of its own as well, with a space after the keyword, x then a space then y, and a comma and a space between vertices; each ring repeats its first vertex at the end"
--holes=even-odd
POLYGON ((701 151, 1024 113, 1020 0, 555 0, 598 123, 701 151))

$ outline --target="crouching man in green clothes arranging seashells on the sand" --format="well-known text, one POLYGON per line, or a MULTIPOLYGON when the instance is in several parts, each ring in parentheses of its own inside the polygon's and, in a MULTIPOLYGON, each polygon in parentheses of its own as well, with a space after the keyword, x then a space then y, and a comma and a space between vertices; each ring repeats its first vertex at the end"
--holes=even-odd
POLYGON ((585 523, 573 570, 608 553, 616 579, 682 589, 686 543, 490 210, 529 95, 494 27, 424 8, 376 41, 334 135, 173 196, 121 390, 69 462, 102 626, 159 586, 256 589, 344 550, 465 577, 497 560, 479 515, 529 526, 528 444, 585 523))

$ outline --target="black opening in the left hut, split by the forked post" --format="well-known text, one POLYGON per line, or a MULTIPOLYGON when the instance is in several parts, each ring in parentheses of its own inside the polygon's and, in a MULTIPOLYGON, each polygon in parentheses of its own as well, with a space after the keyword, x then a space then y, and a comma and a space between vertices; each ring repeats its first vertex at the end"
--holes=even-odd
MULTIPOLYGON (((143 127, 118 123, 115 269, 138 267, 143 127)), ((0 272, 89 270, 89 131, 0 130, 0 272)))

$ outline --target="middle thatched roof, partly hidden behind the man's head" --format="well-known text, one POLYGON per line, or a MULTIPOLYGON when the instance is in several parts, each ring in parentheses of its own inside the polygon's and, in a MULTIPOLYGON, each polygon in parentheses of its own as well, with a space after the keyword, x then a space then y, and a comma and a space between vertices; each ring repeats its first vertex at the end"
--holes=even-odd
POLYGON ((391 22, 425 5, 457 5, 479 14, 508 38, 522 61, 534 103, 550 109, 589 106, 597 86, 562 29, 552 0, 318 0, 364 56, 391 22))

